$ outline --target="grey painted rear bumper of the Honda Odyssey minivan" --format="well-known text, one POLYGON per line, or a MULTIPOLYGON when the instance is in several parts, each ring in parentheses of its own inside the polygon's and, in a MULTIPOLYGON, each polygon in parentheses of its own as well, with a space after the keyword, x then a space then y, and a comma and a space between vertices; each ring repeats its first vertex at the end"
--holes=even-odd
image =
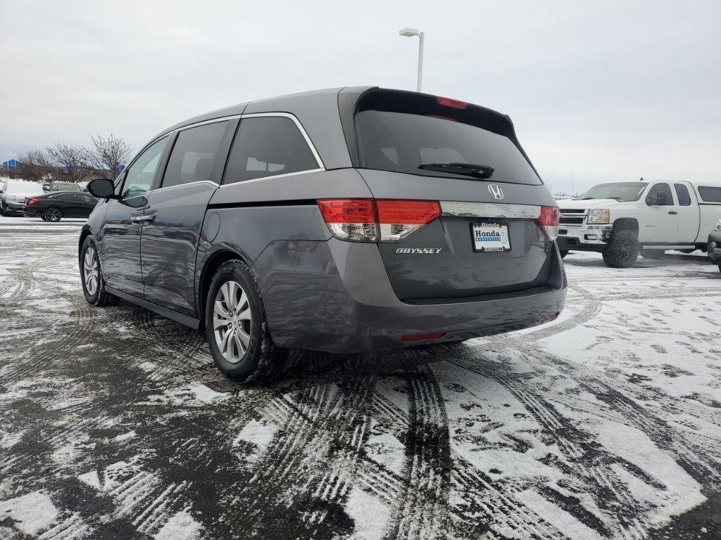
POLYGON ((565 305, 567 282, 557 248, 544 287, 445 303, 405 303, 393 292, 375 244, 277 241, 255 261, 273 341, 281 347, 349 353, 424 341, 520 330, 552 320, 565 305))

